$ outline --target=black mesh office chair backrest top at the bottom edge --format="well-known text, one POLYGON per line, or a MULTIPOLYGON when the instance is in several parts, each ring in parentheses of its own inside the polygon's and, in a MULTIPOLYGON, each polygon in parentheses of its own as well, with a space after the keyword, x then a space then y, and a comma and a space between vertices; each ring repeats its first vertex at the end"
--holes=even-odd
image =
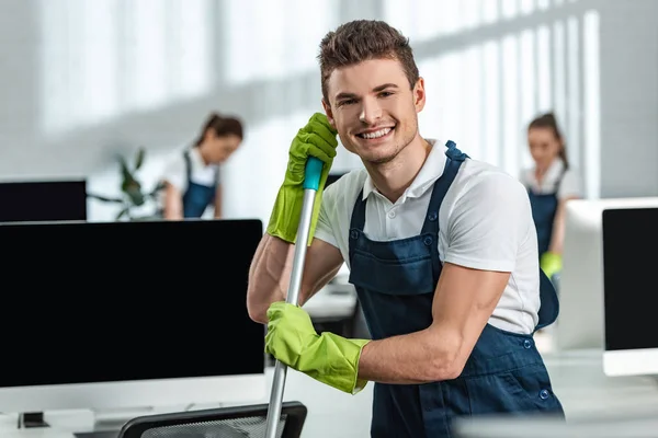
MULTIPOLYGON (((299 438, 306 406, 283 402, 277 438, 299 438)), ((145 415, 127 422, 118 438, 261 438, 265 436, 268 404, 145 415)))

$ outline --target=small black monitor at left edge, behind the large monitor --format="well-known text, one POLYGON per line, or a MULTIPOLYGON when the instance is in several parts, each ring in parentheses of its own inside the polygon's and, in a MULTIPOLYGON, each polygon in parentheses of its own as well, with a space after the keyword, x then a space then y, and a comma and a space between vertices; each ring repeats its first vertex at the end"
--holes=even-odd
POLYGON ((0 222, 87 220, 87 182, 0 182, 0 222))

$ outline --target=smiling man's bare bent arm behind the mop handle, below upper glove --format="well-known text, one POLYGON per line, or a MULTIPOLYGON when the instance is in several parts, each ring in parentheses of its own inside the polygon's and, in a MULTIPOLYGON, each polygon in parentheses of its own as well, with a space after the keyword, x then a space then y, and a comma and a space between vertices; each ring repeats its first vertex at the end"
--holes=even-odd
MULTIPOLYGON (((270 304, 286 299, 294 254, 295 245, 266 233, 263 235, 249 269, 247 310, 253 321, 266 324, 270 304)), ((342 263, 336 246, 314 239, 306 252, 298 304, 303 306, 333 278, 342 263)))

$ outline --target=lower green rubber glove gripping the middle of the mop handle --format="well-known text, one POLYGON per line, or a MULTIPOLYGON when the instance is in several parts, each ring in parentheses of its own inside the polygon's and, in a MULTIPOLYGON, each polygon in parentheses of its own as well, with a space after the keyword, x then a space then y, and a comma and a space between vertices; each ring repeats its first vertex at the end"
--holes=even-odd
POLYGON ((268 309, 265 351, 313 379, 355 394, 367 381, 358 379, 359 358, 367 339, 318 335, 300 307, 277 301, 268 309))

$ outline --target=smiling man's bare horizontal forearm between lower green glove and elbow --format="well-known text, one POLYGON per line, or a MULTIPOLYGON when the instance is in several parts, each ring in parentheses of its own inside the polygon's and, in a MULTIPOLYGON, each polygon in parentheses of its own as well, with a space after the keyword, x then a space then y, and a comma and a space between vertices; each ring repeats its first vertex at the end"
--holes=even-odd
POLYGON ((359 378, 382 383, 427 383, 454 379, 462 343, 433 327, 372 341, 363 347, 359 378))

